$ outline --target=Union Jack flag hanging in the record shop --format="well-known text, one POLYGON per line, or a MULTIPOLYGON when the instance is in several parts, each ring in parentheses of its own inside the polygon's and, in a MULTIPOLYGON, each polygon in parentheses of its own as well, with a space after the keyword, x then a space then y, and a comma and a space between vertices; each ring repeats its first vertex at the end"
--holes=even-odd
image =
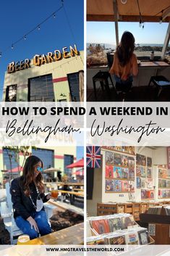
POLYGON ((87 167, 100 168, 101 167, 101 146, 87 146, 86 160, 87 160, 87 167))

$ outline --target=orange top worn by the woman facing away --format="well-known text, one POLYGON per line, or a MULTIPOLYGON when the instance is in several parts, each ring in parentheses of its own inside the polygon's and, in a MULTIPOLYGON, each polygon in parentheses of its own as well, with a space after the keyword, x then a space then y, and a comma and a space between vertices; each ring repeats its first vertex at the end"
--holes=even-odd
POLYGON ((110 70, 111 74, 117 75, 122 80, 127 80, 129 75, 137 75, 137 57, 135 54, 132 54, 132 57, 129 59, 129 62, 122 67, 119 63, 117 54, 114 54, 114 63, 110 70))

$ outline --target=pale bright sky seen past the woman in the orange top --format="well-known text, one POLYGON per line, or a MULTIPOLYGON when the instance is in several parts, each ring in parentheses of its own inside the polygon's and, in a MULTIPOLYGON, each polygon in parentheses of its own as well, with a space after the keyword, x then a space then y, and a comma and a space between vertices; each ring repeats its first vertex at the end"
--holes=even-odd
MULTIPOLYGON (((168 23, 145 22, 139 28, 139 22, 119 22, 119 39, 128 30, 135 36, 136 44, 163 44, 168 23)), ((88 22, 87 42, 116 44, 114 22, 88 22)))

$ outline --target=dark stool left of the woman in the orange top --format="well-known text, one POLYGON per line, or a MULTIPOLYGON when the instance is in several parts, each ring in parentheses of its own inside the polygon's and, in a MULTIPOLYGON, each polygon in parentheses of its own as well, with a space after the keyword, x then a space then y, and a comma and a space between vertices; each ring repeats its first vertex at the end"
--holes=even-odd
MULTIPOLYGON (((95 74, 95 76, 93 76, 93 88, 94 88, 94 92, 95 92, 95 101, 97 100, 97 95, 96 95, 96 86, 95 83, 96 82, 100 82, 101 83, 101 89, 102 91, 104 90, 104 86, 106 87, 106 91, 110 96, 110 88, 109 88, 109 78, 111 80, 111 74, 107 71, 99 71, 97 74, 95 74)), ((111 80, 111 84, 114 87, 114 83, 111 80)))

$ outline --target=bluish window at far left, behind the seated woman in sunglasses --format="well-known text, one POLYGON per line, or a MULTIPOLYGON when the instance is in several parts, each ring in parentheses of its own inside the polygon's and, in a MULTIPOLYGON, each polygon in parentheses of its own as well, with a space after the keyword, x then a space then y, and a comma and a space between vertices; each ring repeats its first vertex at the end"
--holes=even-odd
POLYGON ((18 166, 15 153, 12 150, 3 148, 4 170, 11 170, 18 166))

